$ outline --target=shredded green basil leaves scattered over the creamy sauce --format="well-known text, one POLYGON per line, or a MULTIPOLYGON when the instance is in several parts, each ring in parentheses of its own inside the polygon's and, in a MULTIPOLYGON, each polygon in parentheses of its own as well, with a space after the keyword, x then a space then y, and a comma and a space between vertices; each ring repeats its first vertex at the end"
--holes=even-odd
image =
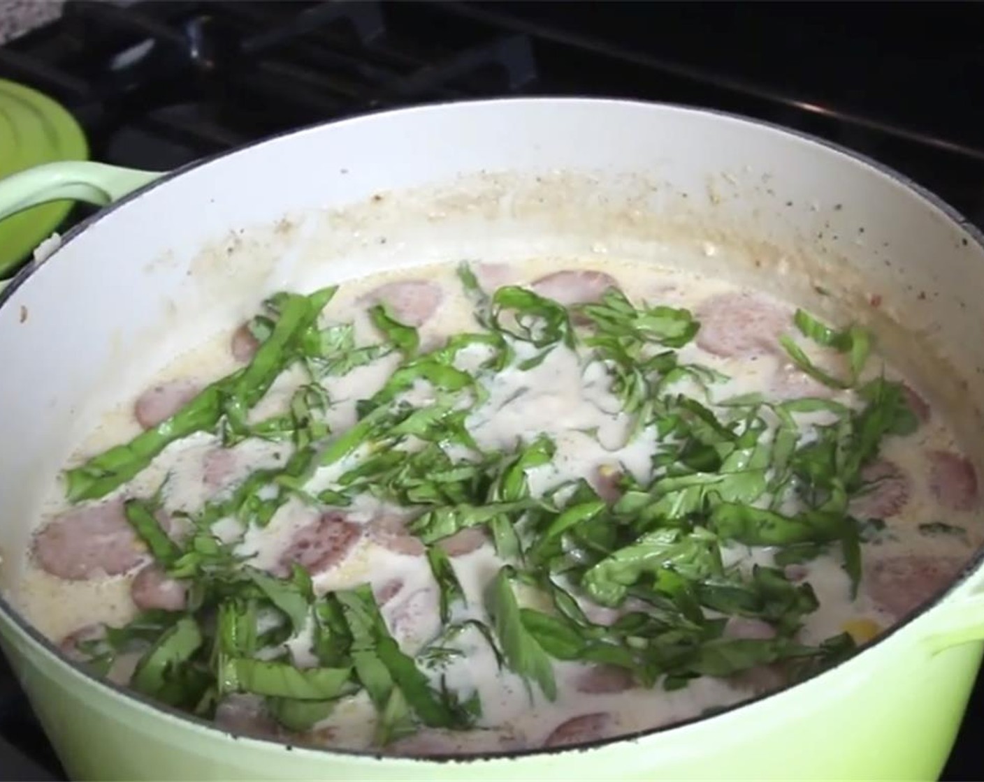
MULTIPOLYGON (((359 344, 352 324, 319 323, 335 288, 271 297, 250 321, 259 348, 246 367, 130 443, 67 471, 68 499, 78 503, 124 487, 194 434, 215 435, 226 448, 253 439, 283 449, 277 467, 254 469, 197 511, 177 514, 185 535, 161 523, 163 488, 127 500, 128 522, 161 568, 185 581, 188 606, 145 612, 80 643, 93 665, 105 671, 120 655, 139 654, 131 682, 139 692, 206 716, 226 694, 249 693, 298 732, 365 692, 377 712, 375 739, 386 745, 421 725, 474 726, 477 693, 452 692, 443 674, 436 679, 466 656, 465 637, 486 644, 531 697, 550 700, 558 697, 556 660, 615 666, 641 686, 672 690, 776 662, 806 676, 851 653, 847 635, 817 645, 797 640, 817 598, 782 568, 839 556, 856 592, 863 544, 880 534, 877 519, 850 514, 849 501, 885 438, 910 434, 918 419, 899 384, 861 382, 868 331, 836 330, 796 312, 803 337, 846 356, 844 378, 780 337, 800 370, 850 390, 856 403, 718 398, 729 379, 681 361, 701 328, 686 309, 637 305, 615 288, 569 308, 522 286, 486 293, 466 264, 458 273, 476 330, 426 350, 418 331, 385 305, 368 310, 379 341, 359 344), (584 479, 534 493, 531 477, 552 469, 558 450, 535 422, 528 437, 501 449, 475 442, 472 423, 487 413, 496 377, 532 372, 555 350, 574 352, 585 370, 600 364, 616 412, 631 419, 630 439, 646 433, 654 444, 645 479, 619 474, 617 499, 599 497, 584 479), (383 359, 392 362, 385 382, 358 400, 353 425, 334 429, 333 379, 383 359), (286 408, 251 420, 277 378, 295 367, 306 381, 286 408), (426 401, 413 400, 420 389, 426 401), (818 414, 822 423, 800 424, 818 414), (313 488, 324 468, 333 470, 330 485, 313 488), (441 632, 414 656, 400 648, 369 585, 319 593, 299 565, 287 574, 259 570, 237 541, 213 532, 221 521, 264 527, 291 501, 324 510, 362 497, 406 511, 407 534, 426 546, 441 632), (503 561, 480 607, 467 603, 438 545, 475 527, 490 534, 503 561), (740 547, 768 548, 774 567, 726 565, 733 558, 724 554, 740 547), (523 598, 528 590, 542 598, 535 607, 523 598), (591 605, 618 609, 617 620, 592 622, 591 605), (474 618, 479 608, 487 622, 474 618), (774 636, 731 637, 728 618, 768 623, 774 636), (294 656, 300 639, 309 639, 304 665, 294 656)), ((942 522, 920 531, 963 533, 942 522)))

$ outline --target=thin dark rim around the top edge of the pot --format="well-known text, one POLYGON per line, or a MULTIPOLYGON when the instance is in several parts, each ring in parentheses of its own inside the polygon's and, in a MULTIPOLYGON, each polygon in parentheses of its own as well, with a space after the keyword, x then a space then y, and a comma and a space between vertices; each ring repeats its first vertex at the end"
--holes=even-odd
MULTIPOLYGON (((758 129, 765 129, 771 131, 778 135, 791 136, 793 138, 804 141, 809 145, 815 147, 821 147, 825 150, 830 150, 832 152, 839 153, 843 157, 847 158, 846 162, 863 163, 869 168, 873 169, 874 173, 882 175, 886 179, 901 185, 903 188, 919 196, 924 202, 927 202, 928 206, 935 207, 937 210, 941 211, 943 215, 952 222, 957 228, 965 232, 969 238, 964 237, 962 243, 964 246, 969 244, 972 240, 978 249, 984 253, 984 232, 978 229, 970 220, 968 220, 963 214, 956 209, 954 209, 950 204, 944 201, 942 198, 937 196, 932 191, 923 187, 919 183, 910 179, 908 176, 902 174, 901 172, 895 170, 891 166, 882 163, 868 155, 858 152, 855 150, 850 150, 842 147, 838 144, 830 142, 826 139, 814 136, 812 134, 804 133, 793 128, 788 128, 777 123, 769 122, 767 120, 758 119, 755 117, 750 117, 743 114, 738 114, 730 111, 722 111, 715 108, 691 105, 685 103, 672 103, 664 101, 649 101, 649 100, 634 100, 634 99, 623 99, 614 97, 570 97, 570 96, 536 96, 536 97, 495 97, 495 98, 483 98, 483 99, 469 99, 469 100, 446 100, 446 101, 434 101, 428 103, 421 103, 413 106, 405 106, 400 108, 381 108, 362 112, 355 114, 343 119, 337 120, 327 120, 324 122, 317 122, 310 125, 306 125, 300 128, 294 128, 290 130, 281 131, 277 134, 258 139, 256 141, 249 142, 240 147, 236 147, 231 150, 219 151, 215 154, 208 155, 197 160, 193 160, 186 163, 178 168, 168 171, 155 179, 153 182, 144 185, 133 192, 127 194, 125 197, 119 201, 110 204, 109 206, 99 210, 92 216, 86 218, 82 222, 73 226, 69 229, 63 237, 58 247, 52 251, 52 253, 45 258, 44 261, 37 262, 31 261, 24 268, 21 269, 6 286, 6 288, 0 290, 0 307, 3 307, 11 299, 14 293, 21 287, 31 275, 40 269, 42 266, 47 264, 51 257, 58 255, 61 250, 68 245, 70 242, 77 239, 84 231, 90 228, 94 223, 105 219, 114 211, 117 211, 120 207, 128 204, 134 199, 140 198, 146 193, 154 190, 172 179, 182 176, 185 173, 193 171, 199 167, 209 165, 218 159, 237 154, 245 150, 253 149, 254 147, 259 147, 268 143, 273 143, 290 136, 299 136, 305 133, 314 133, 321 129, 328 128, 334 125, 349 124, 349 123, 359 123, 372 121, 375 119, 382 119, 390 115, 400 115, 408 113, 417 112, 441 112, 448 110, 455 110, 461 108, 462 110, 467 110, 470 107, 482 106, 488 104, 512 104, 520 105, 523 104, 588 104, 597 106, 599 109, 606 106, 634 106, 641 109, 656 109, 662 111, 668 111, 672 113, 679 113, 685 115, 705 115, 711 118, 722 119, 736 125, 746 125, 754 126, 758 129)), ((755 703, 758 703, 766 698, 772 697, 782 692, 788 692, 794 688, 804 685, 808 682, 812 682, 819 677, 825 676, 831 671, 842 668, 846 665, 856 664, 856 660, 862 655, 866 654, 870 650, 874 649, 886 642, 890 637, 895 635, 911 625, 915 620, 928 614, 934 610, 937 606, 943 603, 959 585, 964 583, 969 576, 974 572, 978 571, 981 566, 984 565, 984 546, 978 548, 974 553, 973 557, 968 560, 964 567, 957 573, 956 576, 942 589, 937 590, 933 596, 926 602, 920 604, 916 609, 910 611, 902 619, 892 625, 886 632, 881 633, 875 640, 870 641, 864 645, 858 652, 855 652, 848 658, 830 666, 830 668, 823 669, 811 676, 803 679, 802 681, 785 685, 776 690, 771 690, 769 692, 764 692, 745 700, 740 700, 731 705, 722 706, 716 709, 709 709, 703 714, 691 717, 680 722, 674 722, 666 725, 660 725, 654 728, 648 728, 642 731, 635 731, 631 733, 619 734, 617 736, 609 737, 606 739, 598 739, 590 742, 582 742, 579 744, 567 745, 562 747, 554 748, 535 748, 527 750, 518 750, 514 752, 475 752, 473 754, 435 754, 427 756, 414 757, 410 755, 395 755, 386 754, 384 752, 372 752, 372 751, 360 751, 360 750, 346 750, 343 748, 332 748, 332 747, 311 747, 307 745, 291 745, 285 741, 277 739, 268 739, 252 736, 249 734, 236 733, 235 731, 225 730, 218 727, 215 722, 203 719, 194 714, 189 714, 185 711, 177 709, 172 706, 155 701, 154 699, 141 694, 140 692, 135 692, 129 690, 128 688, 122 687, 120 685, 109 682, 105 679, 101 679, 87 668, 83 666, 82 663, 70 660, 65 656, 57 647, 57 645, 49 640, 43 633, 37 631, 33 625, 24 617, 19 611, 15 610, 10 602, 4 597, 3 593, 0 592, 0 620, 9 619, 16 630, 23 632, 28 638, 39 645, 42 650, 52 656, 56 664, 65 666, 71 669, 76 675, 81 675, 85 679, 89 680, 91 684, 96 687, 103 689, 110 696, 118 696, 131 701, 135 701, 141 706, 148 707, 165 718, 172 718, 179 720, 180 722, 190 724, 198 729, 204 729, 207 733, 217 733, 226 737, 231 737, 232 739, 239 741, 256 742, 262 744, 268 748, 280 748, 282 752, 301 752, 304 754, 310 753, 313 755, 342 755, 349 758, 359 758, 366 761, 385 761, 391 765, 397 765, 399 763, 415 763, 415 764, 430 764, 430 763, 442 763, 442 764, 457 764, 457 765, 468 765, 471 763, 483 762, 483 761, 500 761, 500 760, 511 760, 511 759, 522 759, 523 757, 529 756, 543 756, 558 753, 569 753, 569 752, 583 752, 591 749, 598 749, 601 747, 607 747, 610 745, 617 745, 627 742, 635 742, 641 739, 646 739, 650 736, 656 734, 667 733, 680 728, 689 727, 698 722, 706 722, 714 719, 718 716, 723 716, 725 714, 730 714, 738 709, 746 708, 755 703)))

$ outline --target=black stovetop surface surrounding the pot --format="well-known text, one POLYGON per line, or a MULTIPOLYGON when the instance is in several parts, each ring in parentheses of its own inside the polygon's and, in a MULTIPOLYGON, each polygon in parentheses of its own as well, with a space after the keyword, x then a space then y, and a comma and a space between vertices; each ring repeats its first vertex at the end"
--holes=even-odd
MULTIPOLYGON (((155 169, 436 100, 711 106, 860 150, 984 227, 982 29, 981 4, 68 0, 0 47, 0 78, 68 106, 93 158, 155 169)), ((984 678, 946 779, 984 778, 981 735, 984 678)), ((64 778, 0 658, 0 780, 64 778)))

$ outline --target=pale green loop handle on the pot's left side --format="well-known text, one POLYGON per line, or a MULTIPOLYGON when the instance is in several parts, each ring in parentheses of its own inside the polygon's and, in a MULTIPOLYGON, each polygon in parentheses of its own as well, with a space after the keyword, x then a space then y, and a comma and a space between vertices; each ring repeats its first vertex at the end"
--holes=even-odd
POLYGON ((0 220, 49 201, 84 201, 105 207, 161 174, 89 161, 38 165, 0 179, 0 220))

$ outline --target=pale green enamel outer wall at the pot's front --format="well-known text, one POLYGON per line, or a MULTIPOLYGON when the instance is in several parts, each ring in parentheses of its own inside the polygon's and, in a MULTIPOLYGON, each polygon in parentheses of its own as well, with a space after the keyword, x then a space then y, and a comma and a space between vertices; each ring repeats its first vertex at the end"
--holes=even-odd
POLYGON ((934 652, 914 633, 896 633, 797 688, 642 739, 440 763, 232 738, 90 680, 2 615, 0 633, 79 780, 934 779, 982 650, 974 642, 934 652))

